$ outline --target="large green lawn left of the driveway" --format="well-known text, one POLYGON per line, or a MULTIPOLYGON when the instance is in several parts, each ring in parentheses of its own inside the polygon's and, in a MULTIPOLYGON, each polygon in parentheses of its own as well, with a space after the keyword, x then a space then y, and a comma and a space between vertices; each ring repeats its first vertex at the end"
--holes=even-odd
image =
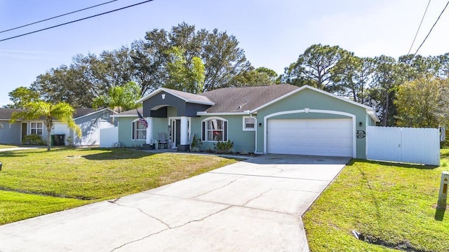
POLYGON ((0 225, 186 179, 236 160, 130 149, 0 152, 0 225))

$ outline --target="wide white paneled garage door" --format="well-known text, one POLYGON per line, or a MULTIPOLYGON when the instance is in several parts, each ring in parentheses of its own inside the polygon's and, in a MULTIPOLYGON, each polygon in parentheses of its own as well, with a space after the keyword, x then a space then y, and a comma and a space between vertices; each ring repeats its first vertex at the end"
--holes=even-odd
POLYGON ((352 157, 352 119, 268 120, 267 153, 352 157))

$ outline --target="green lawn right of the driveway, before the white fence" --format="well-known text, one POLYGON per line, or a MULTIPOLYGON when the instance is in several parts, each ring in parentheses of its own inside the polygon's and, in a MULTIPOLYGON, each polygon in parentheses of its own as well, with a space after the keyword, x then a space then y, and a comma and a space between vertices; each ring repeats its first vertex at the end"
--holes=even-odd
POLYGON ((435 209, 448 156, 441 167, 351 161, 304 215, 310 250, 449 251, 449 210, 435 209))

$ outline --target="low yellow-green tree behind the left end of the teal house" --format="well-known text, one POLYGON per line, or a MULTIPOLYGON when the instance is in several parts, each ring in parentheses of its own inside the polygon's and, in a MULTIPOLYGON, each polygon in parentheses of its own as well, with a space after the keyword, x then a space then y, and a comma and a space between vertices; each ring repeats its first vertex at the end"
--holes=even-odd
POLYGON ((93 99, 93 107, 107 107, 116 112, 136 109, 140 104, 135 102, 140 98, 140 87, 133 81, 125 85, 115 86, 109 89, 108 94, 101 94, 93 99))

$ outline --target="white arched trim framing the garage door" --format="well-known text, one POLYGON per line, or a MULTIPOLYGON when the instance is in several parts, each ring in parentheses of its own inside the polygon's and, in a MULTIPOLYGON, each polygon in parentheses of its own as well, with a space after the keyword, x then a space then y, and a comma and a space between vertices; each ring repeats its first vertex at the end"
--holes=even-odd
MULTIPOLYGON (((271 113, 264 117, 264 154, 267 154, 267 120, 274 116, 288 115, 293 113, 306 113, 304 109, 294 110, 294 111, 281 111, 276 113, 271 113)), ((357 146, 356 146, 356 116, 351 113, 346 113, 342 111, 328 111, 322 109, 309 109, 309 113, 328 113, 333 115, 348 116, 352 118, 352 158, 357 156, 357 146)))

